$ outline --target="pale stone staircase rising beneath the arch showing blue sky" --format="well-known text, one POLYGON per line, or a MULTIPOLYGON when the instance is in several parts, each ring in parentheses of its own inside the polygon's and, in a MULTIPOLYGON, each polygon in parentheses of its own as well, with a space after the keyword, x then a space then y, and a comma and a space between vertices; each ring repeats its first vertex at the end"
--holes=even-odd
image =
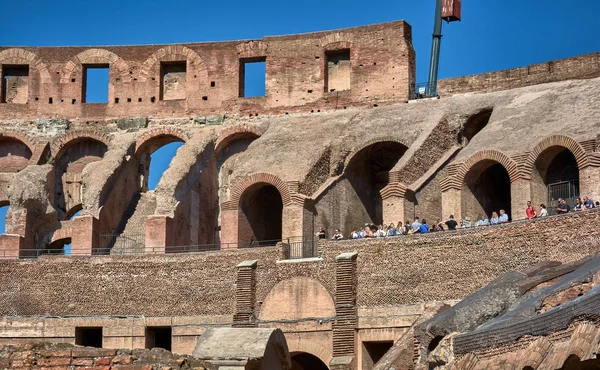
POLYGON ((153 191, 136 194, 123 214, 110 254, 143 253, 146 239, 146 218, 156 210, 153 191))

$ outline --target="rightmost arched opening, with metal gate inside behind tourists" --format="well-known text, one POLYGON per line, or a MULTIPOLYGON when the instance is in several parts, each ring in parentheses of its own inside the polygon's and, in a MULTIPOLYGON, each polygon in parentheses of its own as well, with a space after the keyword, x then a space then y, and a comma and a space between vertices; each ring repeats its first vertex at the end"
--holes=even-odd
POLYGON ((547 148, 537 157, 532 173, 535 204, 546 203, 549 211, 558 198, 573 206, 579 194, 579 167, 575 155, 562 146, 547 148))

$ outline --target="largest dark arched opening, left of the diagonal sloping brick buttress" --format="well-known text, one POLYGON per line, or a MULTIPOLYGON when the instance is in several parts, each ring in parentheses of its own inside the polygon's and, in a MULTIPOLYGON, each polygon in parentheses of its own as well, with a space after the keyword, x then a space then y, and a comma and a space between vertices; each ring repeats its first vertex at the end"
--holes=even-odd
POLYGON ((347 215, 343 227, 346 232, 366 221, 376 225, 383 223, 380 191, 388 184, 389 171, 406 149, 404 144, 382 141, 369 145, 352 157, 344 172, 353 190, 345 210, 347 215))

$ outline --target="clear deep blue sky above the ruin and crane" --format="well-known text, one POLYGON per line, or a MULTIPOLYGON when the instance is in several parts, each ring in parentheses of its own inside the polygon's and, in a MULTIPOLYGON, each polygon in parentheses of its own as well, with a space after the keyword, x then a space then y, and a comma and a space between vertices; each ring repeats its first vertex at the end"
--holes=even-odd
MULTIPOLYGON (((5 46, 257 39, 404 19, 413 27, 417 80, 426 82, 435 1, 20 0, 3 5, 0 45, 5 46)), ((462 14, 462 22, 444 23, 440 78, 600 50, 597 0, 463 0, 462 14)), ((166 168, 175 150, 176 145, 156 155, 153 166, 166 168)))

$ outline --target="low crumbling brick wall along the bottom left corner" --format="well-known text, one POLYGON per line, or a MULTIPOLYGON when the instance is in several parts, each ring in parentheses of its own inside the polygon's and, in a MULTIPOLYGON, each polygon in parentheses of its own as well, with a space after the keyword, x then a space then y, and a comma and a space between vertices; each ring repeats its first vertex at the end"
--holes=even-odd
POLYGON ((162 349, 116 350, 71 344, 32 343, 0 347, 0 368, 53 370, 202 370, 201 361, 162 349))

